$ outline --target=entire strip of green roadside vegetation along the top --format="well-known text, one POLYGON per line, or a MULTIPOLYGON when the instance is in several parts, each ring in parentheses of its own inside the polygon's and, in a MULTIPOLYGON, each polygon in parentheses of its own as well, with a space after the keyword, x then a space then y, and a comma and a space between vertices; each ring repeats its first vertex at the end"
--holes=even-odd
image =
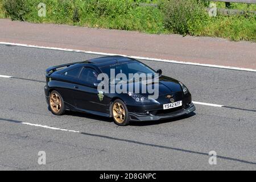
MULTIPOLYGON (((224 2, 216 5, 225 8, 224 2)), ((0 18, 256 42, 255 14, 210 17, 207 6, 203 0, 0 0, 0 18), (38 16, 40 2, 46 4, 46 17, 38 16)), ((241 3, 230 8, 256 11, 256 5, 241 3)))

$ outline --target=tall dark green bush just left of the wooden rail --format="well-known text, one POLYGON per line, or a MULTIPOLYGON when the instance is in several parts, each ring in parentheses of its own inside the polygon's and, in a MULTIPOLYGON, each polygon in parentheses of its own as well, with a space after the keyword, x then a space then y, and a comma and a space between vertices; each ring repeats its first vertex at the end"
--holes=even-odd
POLYGON ((164 1, 164 24, 176 34, 191 33, 193 24, 200 23, 207 18, 204 4, 197 0, 170 0, 164 1))

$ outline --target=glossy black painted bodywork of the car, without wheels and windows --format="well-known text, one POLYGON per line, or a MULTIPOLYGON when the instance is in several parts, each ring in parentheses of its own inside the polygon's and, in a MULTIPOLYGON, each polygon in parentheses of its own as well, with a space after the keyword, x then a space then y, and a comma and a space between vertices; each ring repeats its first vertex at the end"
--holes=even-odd
POLYGON ((125 102, 131 121, 150 121, 172 118, 195 111, 195 106, 192 104, 191 100, 191 93, 188 92, 184 94, 179 81, 167 76, 161 76, 159 78, 158 99, 141 103, 135 101, 127 93, 105 93, 104 99, 100 101, 96 86, 83 82, 80 80, 79 76, 69 77, 64 74, 75 68, 81 68, 81 70, 93 68, 96 72, 102 73, 100 67, 116 64, 117 61, 118 63, 125 63, 126 61, 137 60, 122 56, 106 56, 48 68, 46 71, 47 84, 44 87, 47 104, 49 104, 49 93, 51 93, 52 90, 57 90, 63 97, 65 110, 81 111, 104 117, 112 117, 112 103, 116 99, 121 99, 125 102), (170 103, 170 99, 166 98, 168 94, 172 94, 175 101, 182 100, 183 106, 163 110, 163 104, 170 103), (149 111, 149 114, 146 114, 146 111, 149 111))

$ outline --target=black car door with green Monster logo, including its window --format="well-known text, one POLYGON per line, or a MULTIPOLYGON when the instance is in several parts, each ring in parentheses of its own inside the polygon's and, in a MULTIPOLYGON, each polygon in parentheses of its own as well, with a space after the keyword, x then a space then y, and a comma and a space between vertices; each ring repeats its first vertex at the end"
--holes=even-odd
POLYGON ((82 68, 79 76, 81 84, 76 85, 76 92, 74 93, 74 101, 77 109, 98 111, 109 114, 110 99, 105 93, 98 92, 93 85, 97 82, 98 72, 90 67, 82 68))

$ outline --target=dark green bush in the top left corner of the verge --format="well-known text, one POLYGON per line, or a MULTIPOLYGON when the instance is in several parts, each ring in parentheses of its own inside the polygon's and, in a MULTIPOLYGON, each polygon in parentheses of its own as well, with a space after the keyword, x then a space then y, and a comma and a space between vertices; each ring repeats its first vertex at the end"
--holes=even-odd
POLYGON ((3 7, 12 20, 24 21, 24 15, 29 12, 26 0, 4 0, 3 7))

